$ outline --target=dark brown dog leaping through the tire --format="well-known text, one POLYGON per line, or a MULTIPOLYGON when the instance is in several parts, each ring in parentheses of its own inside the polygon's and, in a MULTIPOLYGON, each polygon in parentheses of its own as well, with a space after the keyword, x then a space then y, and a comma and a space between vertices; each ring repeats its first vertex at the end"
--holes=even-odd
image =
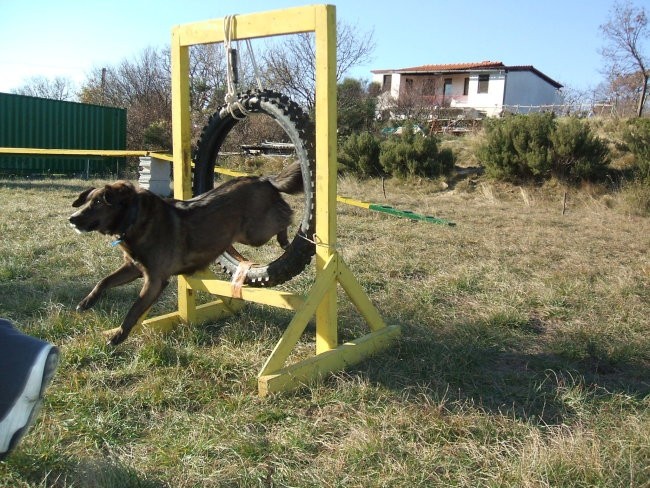
POLYGON ((70 216, 70 225, 80 233, 115 236, 124 262, 95 285, 77 310, 92 307, 109 288, 144 278, 121 326, 106 332, 109 344, 124 342, 171 276, 206 268, 234 243, 262 246, 277 236, 286 248, 293 211, 280 192, 302 191, 298 162, 276 176, 234 178, 190 200, 161 198, 123 180, 88 188, 72 203, 79 210, 70 216))

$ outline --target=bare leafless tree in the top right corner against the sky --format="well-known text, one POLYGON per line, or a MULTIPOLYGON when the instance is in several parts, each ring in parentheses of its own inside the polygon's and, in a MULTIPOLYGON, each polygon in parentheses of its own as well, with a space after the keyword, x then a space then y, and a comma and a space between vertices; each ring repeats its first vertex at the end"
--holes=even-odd
POLYGON ((638 80, 636 115, 641 117, 650 78, 650 58, 642 45, 650 38, 645 8, 636 8, 630 1, 616 2, 610 11, 610 20, 600 29, 607 42, 601 55, 605 58, 610 82, 629 77, 638 80))

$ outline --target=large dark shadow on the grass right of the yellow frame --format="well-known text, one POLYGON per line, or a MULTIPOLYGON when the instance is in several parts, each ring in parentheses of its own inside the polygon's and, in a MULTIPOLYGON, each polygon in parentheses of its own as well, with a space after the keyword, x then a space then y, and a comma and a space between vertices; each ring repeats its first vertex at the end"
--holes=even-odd
POLYGON ((544 424, 571 423, 583 408, 598 409, 616 394, 633 401, 650 394, 650 368, 642 360, 530 352, 535 348, 525 343, 539 333, 531 329, 513 339, 483 323, 445 330, 407 326, 392 349, 357 372, 394 391, 424 391, 440 404, 469 404, 544 424))

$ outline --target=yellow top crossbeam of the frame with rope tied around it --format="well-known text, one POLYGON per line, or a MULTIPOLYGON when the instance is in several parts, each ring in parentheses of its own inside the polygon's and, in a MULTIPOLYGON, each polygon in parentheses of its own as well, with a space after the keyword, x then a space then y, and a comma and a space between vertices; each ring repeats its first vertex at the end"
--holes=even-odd
MULTIPOLYGON (((232 40, 314 31, 317 12, 324 8, 325 5, 311 5, 237 15, 232 40)), ((178 36, 181 46, 223 42, 223 19, 179 25, 173 29, 173 35, 178 36)))

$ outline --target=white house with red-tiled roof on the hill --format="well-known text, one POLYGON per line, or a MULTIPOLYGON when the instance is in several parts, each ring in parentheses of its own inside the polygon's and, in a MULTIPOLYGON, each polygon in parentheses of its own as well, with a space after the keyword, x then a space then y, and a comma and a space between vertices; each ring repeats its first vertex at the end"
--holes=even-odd
POLYGON ((500 61, 429 64, 373 70, 383 93, 380 110, 395 107, 459 107, 487 116, 516 107, 518 112, 562 103, 562 85, 533 66, 506 66, 500 61))

